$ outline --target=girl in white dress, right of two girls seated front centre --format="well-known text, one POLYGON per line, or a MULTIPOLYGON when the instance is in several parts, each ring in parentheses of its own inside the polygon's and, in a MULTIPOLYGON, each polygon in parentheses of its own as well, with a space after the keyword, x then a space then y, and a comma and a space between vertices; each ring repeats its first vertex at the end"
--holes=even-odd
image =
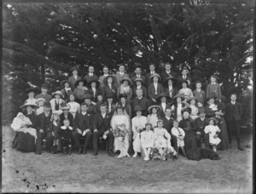
MULTIPOLYGON (((165 160, 164 154, 168 148, 172 148, 171 135, 167 132, 166 128, 163 128, 164 123, 162 120, 158 120, 157 128, 154 128, 154 146, 160 152, 160 157, 165 160)), ((172 148, 173 149, 173 148, 172 148)))

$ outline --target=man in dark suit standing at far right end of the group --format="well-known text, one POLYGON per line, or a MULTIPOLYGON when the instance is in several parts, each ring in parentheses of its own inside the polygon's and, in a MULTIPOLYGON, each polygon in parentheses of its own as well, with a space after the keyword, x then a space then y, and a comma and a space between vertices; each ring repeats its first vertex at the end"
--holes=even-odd
POLYGON ((238 149, 243 151, 243 148, 240 145, 240 122, 242 115, 242 107, 240 103, 236 102, 236 97, 236 94, 231 94, 230 96, 231 101, 226 106, 226 121, 228 134, 230 138, 230 147, 232 141, 232 133, 233 130, 235 130, 238 149))

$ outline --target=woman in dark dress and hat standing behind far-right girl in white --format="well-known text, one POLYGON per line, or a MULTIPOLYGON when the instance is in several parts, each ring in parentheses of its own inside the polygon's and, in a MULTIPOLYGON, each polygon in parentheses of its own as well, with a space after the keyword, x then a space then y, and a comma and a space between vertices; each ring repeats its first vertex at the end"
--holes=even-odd
POLYGON ((215 117, 218 121, 218 128, 221 132, 219 138, 221 140, 218 145, 218 149, 226 150, 229 147, 229 134, 227 131, 226 122, 224 120, 225 108, 224 104, 218 101, 216 95, 210 95, 207 97, 208 105, 206 106, 206 117, 215 117))

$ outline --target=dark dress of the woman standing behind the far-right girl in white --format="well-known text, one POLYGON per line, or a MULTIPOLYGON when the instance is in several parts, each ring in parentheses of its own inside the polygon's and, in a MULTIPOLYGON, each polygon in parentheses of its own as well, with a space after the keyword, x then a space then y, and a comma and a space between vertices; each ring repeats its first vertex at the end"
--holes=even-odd
MULTIPOLYGON (((223 113, 225 113, 225 106, 223 102, 218 102, 217 107, 218 111, 222 111, 223 113)), ((212 108, 210 108, 209 105, 206 107, 206 117, 215 117, 218 120, 218 128, 220 129, 218 137, 221 141, 218 144, 217 148, 220 150, 227 150, 229 147, 229 134, 227 131, 226 122, 224 120, 224 117, 216 117, 215 112, 216 111, 212 111, 212 108)))

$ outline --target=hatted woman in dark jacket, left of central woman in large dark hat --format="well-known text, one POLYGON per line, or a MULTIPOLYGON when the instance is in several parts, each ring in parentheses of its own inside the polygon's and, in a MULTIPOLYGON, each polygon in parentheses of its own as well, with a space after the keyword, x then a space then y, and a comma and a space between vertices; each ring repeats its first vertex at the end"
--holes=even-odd
POLYGON ((113 101, 117 101, 117 88, 116 88, 116 78, 113 75, 109 75, 103 79, 104 86, 102 87, 102 97, 103 100, 107 100, 108 95, 113 96, 113 101))

